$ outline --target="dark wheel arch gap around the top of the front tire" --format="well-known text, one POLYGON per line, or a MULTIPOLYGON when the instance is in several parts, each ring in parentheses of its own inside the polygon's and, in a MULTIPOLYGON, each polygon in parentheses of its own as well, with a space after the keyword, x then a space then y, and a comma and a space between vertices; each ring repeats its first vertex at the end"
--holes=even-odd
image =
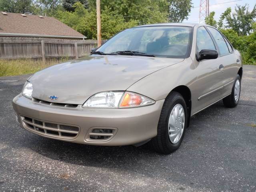
POLYGON ((185 85, 177 86, 171 92, 173 92, 173 91, 180 93, 182 95, 182 97, 184 98, 185 102, 186 102, 187 111, 188 111, 188 123, 187 123, 187 126, 189 126, 190 116, 191 116, 191 91, 185 85))

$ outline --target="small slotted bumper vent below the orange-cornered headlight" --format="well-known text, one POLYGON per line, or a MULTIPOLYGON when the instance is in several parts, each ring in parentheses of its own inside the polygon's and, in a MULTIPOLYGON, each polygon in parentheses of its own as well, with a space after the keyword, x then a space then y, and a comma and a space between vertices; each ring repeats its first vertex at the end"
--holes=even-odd
POLYGON ((86 136, 89 142, 105 142, 110 140, 117 132, 116 128, 92 128, 86 136))

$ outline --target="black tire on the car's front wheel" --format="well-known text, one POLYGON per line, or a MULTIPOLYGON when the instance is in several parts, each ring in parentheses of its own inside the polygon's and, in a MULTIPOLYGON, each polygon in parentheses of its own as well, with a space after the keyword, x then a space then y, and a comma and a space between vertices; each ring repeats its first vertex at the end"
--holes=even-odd
POLYGON ((156 152, 159 152, 162 154, 170 154, 176 151, 180 147, 181 142, 184 138, 185 128, 187 126, 187 119, 188 119, 188 114, 187 114, 186 102, 184 98, 178 92, 171 92, 166 97, 166 100, 164 101, 164 105, 162 107, 162 111, 161 111, 159 122, 158 122, 157 136, 152 138, 152 140, 150 140, 150 146, 156 152), (184 113, 183 120, 182 120, 182 112, 178 116, 175 115, 175 112, 180 112, 181 108, 182 108, 182 112, 184 113), (172 118, 170 119, 170 122, 172 122, 172 125, 174 126, 169 126, 169 118, 172 118), (180 121, 182 123, 180 122, 177 123, 176 120, 177 122, 180 121), (183 130, 182 130, 182 127, 183 127, 183 130), (174 134, 177 133, 177 140, 174 139, 175 136, 172 136, 172 138, 169 136, 169 133, 170 133, 169 129, 171 133, 174 133, 174 134), (182 130, 182 132, 180 132, 180 130, 182 130), (180 136, 178 136, 178 134, 180 136))

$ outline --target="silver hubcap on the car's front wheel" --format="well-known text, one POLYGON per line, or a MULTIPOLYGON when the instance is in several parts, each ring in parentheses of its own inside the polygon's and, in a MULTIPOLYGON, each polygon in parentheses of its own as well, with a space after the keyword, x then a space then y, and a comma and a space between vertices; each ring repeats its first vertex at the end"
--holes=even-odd
POLYGON ((170 141, 177 143, 184 131, 185 114, 181 104, 176 104, 172 109, 168 122, 168 133, 170 141))

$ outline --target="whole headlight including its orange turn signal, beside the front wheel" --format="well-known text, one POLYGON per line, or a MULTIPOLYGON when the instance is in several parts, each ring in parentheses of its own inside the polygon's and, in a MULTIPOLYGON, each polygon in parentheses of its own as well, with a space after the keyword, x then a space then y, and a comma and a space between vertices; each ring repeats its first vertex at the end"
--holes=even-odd
POLYGON ((83 107, 129 108, 154 104, 154 100, 132 92, 101 92, 91 96, 83 107))

